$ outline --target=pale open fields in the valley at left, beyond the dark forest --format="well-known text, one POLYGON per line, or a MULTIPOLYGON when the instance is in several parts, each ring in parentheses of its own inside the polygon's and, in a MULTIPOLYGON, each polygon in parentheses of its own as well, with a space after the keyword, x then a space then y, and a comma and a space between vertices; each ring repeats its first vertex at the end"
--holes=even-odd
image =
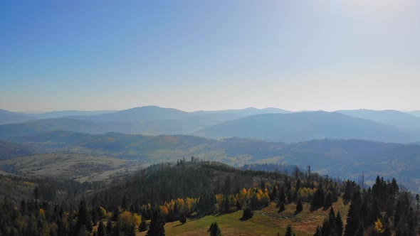
POLYGON ((4 174, 59 177, 76 181, 103 181, 112 175, 140 168, 140 161, 85 154, 37 154, 0 161, 0 170, 4 174))

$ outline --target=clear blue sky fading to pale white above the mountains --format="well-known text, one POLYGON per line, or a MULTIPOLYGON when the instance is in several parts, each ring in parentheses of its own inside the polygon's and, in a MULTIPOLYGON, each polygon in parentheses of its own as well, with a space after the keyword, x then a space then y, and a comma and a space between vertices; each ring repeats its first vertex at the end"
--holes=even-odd
POLYGON ((0 1, 0 109, 420 109, 420 1, 0 1))

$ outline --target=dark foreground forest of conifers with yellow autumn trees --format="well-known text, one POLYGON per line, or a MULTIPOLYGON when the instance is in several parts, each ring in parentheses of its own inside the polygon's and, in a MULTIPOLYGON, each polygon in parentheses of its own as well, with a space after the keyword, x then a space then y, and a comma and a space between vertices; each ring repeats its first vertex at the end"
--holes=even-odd
MULTIPOLYGON (((0 235, 164 235, 166 222, 205 215, 243 212, 274 204, 280 214, 289 204, 295 213, 310 204, 330 214, 314 235, 417 235, 419 195, 401 191, 395 179, 377 177, 362 189, 295 167, 288 172, 251 171, 209 161, 159 163, 133 175, 103 183, 31 180, 1 177, 12 185, 33 184, 23 199, 5 197, 0 203, 0 235), (332 204, 350 204, 347 215, 332 204), (347 224, 343 223, 347 222, 347 224)), ((223 232, 216 222, 210 235, 223 232)), ((293 234, 289 226, 286 235, 293 234)))

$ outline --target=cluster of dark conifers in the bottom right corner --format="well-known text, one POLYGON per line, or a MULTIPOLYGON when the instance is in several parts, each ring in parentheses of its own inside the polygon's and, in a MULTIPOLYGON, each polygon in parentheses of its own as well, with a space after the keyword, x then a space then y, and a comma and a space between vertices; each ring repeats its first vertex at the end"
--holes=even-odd
MULTIPOLYGON (((345 236, 353 235, 418 235, 420 198, 412 202, 411 193, 400 191, 395 178, 392 181, 377 179, 367 190, 361 190, 354 182, 347 181, 343 198, 351 200, 347 213, 345 236)), ((322 226, 318 226, 314 236, 342 235, 342 225, 331 208, 330 215, 322 226)))

